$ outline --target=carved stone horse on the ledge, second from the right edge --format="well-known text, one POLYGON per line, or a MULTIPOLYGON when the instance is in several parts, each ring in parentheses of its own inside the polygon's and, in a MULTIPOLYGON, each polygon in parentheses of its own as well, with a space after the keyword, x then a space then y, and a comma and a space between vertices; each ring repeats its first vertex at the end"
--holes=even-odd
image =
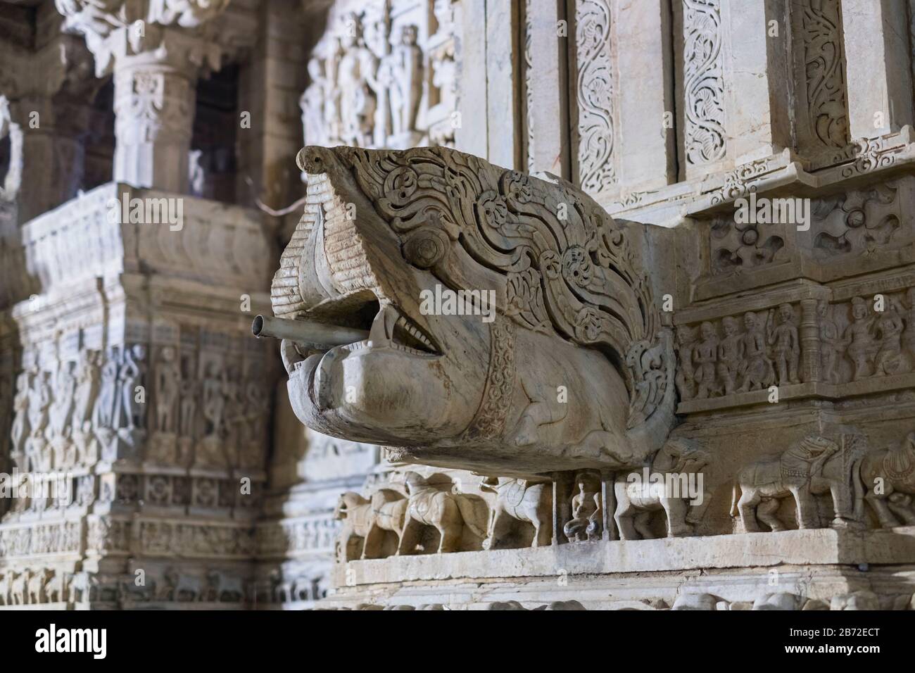
POLYGON ((780 499, 793 497, 797 504, 798 526, 818 528, 820 517, 813 495, 831 494, 833 526, 847 526, 856 518, 850 494, 854 488, 859 501, 861 488, 854 478, 858 462, 851 466, 845 466, 844 462, 838 444, 816 435, 804 438, 780 456, 751 462, 737 472, 731 516, 739 514, 748 533, 762 530, 757 516, 773 532, 786 530, 775 513, 780 499))

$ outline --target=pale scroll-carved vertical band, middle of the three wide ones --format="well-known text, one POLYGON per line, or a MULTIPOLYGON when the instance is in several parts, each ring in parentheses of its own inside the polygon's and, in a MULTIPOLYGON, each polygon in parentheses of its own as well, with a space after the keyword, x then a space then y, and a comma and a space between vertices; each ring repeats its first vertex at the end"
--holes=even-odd
POLYGON ((686 161, 693 166, 725 156, 725 85, 719 0, 684 0, 686 161))

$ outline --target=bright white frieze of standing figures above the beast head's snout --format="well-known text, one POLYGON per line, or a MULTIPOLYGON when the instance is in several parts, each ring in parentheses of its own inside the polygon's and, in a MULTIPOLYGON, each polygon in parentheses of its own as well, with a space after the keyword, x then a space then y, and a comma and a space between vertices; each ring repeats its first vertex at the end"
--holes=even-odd
POLYGON ((454 8, 393 19, 371 2, 331 19, 308 61, 299 101, 309 145, 412 147, 454 141, 457 110, 454 8), (416 21, 417 23, 414 23, 416 21), (431 74, 430 74, 431 73, 431 74))

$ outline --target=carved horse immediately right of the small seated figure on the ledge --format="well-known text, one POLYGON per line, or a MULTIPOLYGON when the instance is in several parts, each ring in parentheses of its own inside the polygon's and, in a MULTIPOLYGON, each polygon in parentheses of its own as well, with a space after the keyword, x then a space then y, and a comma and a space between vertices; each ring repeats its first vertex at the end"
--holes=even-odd
POLYGON ((617 509, 613 518, 619 537, 624 540, 654 537, 649 518, 659 510, 667 516, 668 537, 692 535, 692 522, 702 516, 707 502, 700 478, 695 477, 694 484, 688 482, 690 477, 701 474, 710 461, 711 456, 699 449, 696 442, 670 440, 655 454, 650 468, 618 476, 614 483, 617 509), (691 504, 696 511, 687 516, 691 504))

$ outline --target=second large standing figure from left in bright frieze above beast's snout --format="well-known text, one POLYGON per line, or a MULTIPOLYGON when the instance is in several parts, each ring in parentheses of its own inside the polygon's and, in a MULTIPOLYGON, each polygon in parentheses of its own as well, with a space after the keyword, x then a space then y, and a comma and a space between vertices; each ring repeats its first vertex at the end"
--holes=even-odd
POLYGON ((369 80, 375 75, 378 59, 365 46, 359 15, 350 13, 344 17, 340 44, 343 48, 338 72, 340 136, 349 145, 371 145, 376 102, 369 80))

